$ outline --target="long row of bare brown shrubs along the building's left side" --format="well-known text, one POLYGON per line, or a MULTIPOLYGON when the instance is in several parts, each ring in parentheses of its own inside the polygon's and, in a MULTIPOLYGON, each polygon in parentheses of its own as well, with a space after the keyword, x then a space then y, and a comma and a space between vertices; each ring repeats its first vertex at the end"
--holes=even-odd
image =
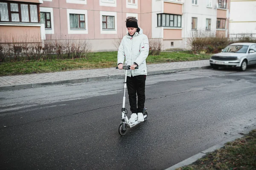
POLYGON ((36 39, 18 42, 19 37, 12 40, 5 37, 0 41, 0 62, 21 60, 45 60, 45 59, 75 59, 87 57, 91 50, 88 40, 45 40, 37 42, 36 39))

